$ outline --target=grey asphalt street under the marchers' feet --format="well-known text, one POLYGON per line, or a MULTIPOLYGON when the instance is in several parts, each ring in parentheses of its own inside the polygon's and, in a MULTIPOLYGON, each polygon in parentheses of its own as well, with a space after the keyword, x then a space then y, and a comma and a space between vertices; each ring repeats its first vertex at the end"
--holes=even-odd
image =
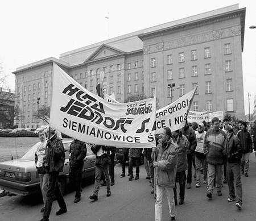
MULTIPOLYGON (((127 170, 127 168, 126 168, 127 170)), ((57 202, 53 203, 50 220, 104 220, 104 221, 131 221, 154 220, 155 199, 150 194, 151 187, 146 180, 144 166, 141 166, 140 178, 137 181, 128 181, 128 177, 120 178, 121 165, 115 166, 115 185, 112 186, 112 195, 106 197, 106 187, 101 187, 98 201, 91 202, 89 195, 93 191, 93 181, 88 181, 82 190, 82 199, 73 203, 74 193, 65 195, 68 212, 56 216, 59 209, 57 202)), ((249 177, 242 176, 243 205, 238 210, 235 202, 228 202, 228 185, 224 184, 222 197, 218 197, 214 190, 213 199, 206 197, 206 185, 185 190, 184 205, 176 206, 176 220, 195 221, 253 221, 256 220, 256 160, 255 153, 250 155, 249 177)), ((178 188, 179 189, 179 188, 178 188)), ((2 197, 0 198, 0 221, 9 220, 39 220, 42 218, 40 196, 34 197, 2 197)), ((164 199, 163 221, 170 220, 168 215, 167 198, 164 199)))

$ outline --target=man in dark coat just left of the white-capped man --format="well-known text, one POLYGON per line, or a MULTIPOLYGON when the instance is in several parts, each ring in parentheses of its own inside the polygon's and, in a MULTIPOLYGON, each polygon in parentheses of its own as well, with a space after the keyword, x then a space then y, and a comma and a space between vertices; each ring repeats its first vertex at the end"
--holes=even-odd
POLYGON ((192 182, 192 162, 195 166, 195 159, 193 160, 193 153, 196 149, 196 134, 192 127, 188 126, 188 122, 185 123, 185 126, 182 129, 182 134, 187 137, 189 142, 189 148, 187 149, 187 159, 188 159, 188 176, 187 176, 187 189, 191 189, 191 182, 192 182))

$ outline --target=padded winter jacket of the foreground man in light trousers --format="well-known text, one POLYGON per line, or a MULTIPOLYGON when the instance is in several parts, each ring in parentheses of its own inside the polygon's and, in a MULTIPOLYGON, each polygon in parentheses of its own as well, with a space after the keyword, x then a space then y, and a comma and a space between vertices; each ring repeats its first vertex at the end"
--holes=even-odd
MULTIPOLYGON (((152 152, 153 153, 153 152, 152 152)), ((165 187, 175 187, 177 170, 177 144, 169 140, 166 144, 159 142, 156 147, 156 184, 165 187)))

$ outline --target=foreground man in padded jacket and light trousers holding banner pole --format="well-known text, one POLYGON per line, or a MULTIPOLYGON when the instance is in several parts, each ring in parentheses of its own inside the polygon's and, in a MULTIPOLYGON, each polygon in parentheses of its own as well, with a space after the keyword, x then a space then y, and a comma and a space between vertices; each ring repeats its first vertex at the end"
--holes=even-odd
POLYGON ((156 153, 156 202, 155 220, 162 220, 163 193, 166 191, 171 220, 175 220, 174 187, 177 170, 177 144, 173 143, 170 128, 163 129, 162 140, 158 146, 153 148, 152 153, 156 153))

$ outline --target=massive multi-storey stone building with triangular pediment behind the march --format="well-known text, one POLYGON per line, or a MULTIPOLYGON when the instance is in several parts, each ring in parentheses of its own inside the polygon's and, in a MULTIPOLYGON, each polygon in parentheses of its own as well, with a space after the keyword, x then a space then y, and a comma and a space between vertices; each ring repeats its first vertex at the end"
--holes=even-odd
POLYGON ((50 105, 53 62, 93 93, 104 71, 109 94, 120 102, 131 94, 156 92, 163 107, 198 86, 193 110, 224 110, 244 118, 244 28, 245 9, 233 5, 21 66, 14 72, 15 102, 25 116, 20 126, 35 127, 38 97, 40 105, 50 105), (168 87, 172 83, 176 86, 168 87))

